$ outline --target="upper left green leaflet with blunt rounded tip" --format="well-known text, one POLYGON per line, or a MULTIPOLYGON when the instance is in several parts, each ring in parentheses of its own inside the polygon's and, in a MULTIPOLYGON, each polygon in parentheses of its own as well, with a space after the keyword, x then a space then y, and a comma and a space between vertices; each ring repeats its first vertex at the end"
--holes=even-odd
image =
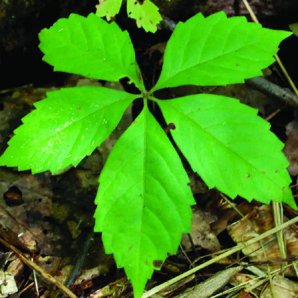
POLYGON ((139 89, 145 89, 129 34, 115 22, 109 24, 93 13, 87 18, 71 14, 43 29, 39 39, 43 60, 54 66, 54 71, 109 81, 127 76, 139 89))

